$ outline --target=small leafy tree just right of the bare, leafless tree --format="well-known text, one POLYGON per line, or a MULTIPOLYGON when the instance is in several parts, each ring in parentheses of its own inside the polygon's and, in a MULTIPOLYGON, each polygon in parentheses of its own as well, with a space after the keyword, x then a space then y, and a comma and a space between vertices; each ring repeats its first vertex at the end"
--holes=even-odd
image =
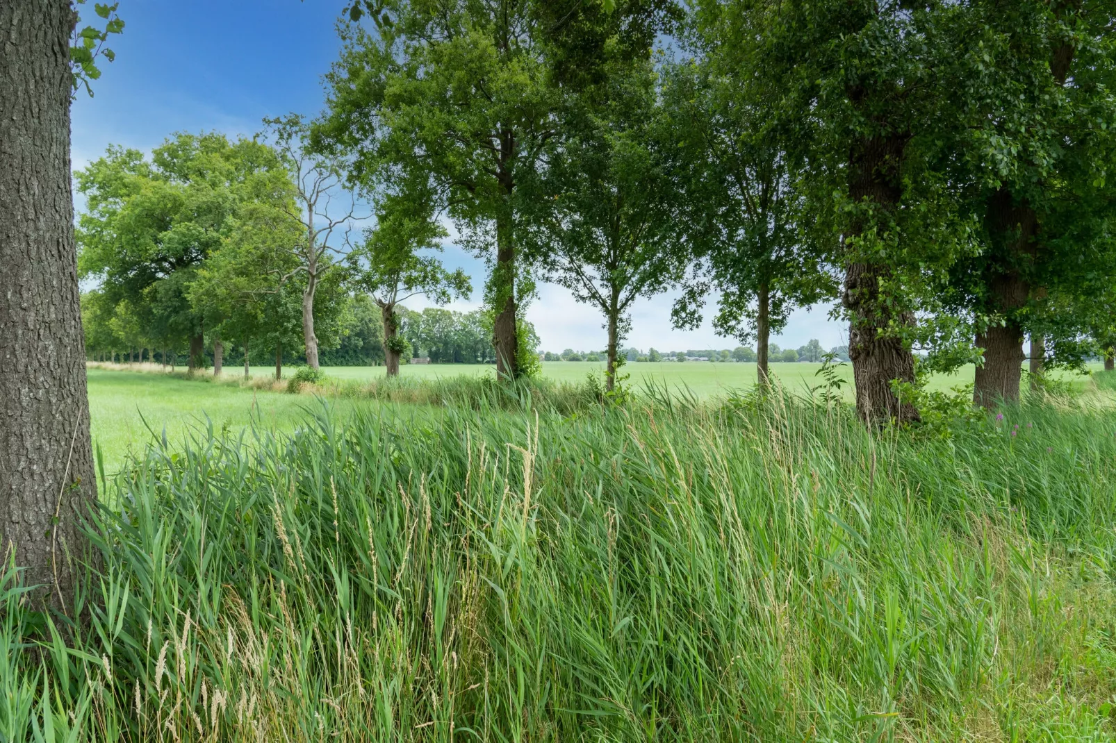
POLYGON ((442 262, 420 251, 441 251, 445 231, 432 219, 427 204, 408 203, 405 197, 386 199, 377 213, 376 226, 365 230, 364 243, 349 254, 354 284, 379 306, 384 324, 387 376, 400 373, 404 339, 398 335, 396 306, 410 297, 425 295, 444 305, 454 297, 472 293, 464 271, 448 271, 442 262))

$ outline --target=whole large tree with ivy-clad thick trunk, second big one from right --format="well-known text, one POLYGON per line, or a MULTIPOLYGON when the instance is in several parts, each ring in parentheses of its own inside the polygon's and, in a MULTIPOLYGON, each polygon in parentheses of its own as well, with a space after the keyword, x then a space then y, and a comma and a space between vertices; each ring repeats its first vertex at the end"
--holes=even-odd
POLYGON ((918 418, 895 383, 914 384, 913 347, 934 337, 935 318, 923 311, 934 281, 971 249, 971 225, 939 166, 970 93, 956 77, 963 9, 701 3, 703 32, 725 29, 739 69, 779 91, 789 149, 804 156, 808 199, 844 270, 857 412, 872 425, 918 418))

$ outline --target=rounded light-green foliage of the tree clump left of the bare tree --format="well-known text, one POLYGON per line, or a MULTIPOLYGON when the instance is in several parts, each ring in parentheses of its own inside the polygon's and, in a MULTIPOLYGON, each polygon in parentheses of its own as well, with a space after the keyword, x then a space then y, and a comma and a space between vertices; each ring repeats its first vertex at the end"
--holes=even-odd
POLYGON ((290 194, 271 148, 179 134, 150 160, 109 147, 75 181, 86 197, 76 232, 79 273, 99 282, 102 301, 119 308, 122 321, 135 319, 145 344, 181 348, 230 318, 259 326, 264 312, 275 324, 273 307, 234 308, 241 297, 272 291, 263 284, 285 268, 262 261, 268 235, 280 238, 256 219, 281 210, 290 194))

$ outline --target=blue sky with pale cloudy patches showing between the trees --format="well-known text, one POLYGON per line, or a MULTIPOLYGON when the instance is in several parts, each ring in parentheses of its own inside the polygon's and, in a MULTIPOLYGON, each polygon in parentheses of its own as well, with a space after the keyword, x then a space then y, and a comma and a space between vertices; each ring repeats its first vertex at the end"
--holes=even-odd
MULTIPOLYGON (((344 0, 121 0, 124 33, 112 39, 116 61, 103 65, 93 98, 74 104, 74 166, 99 157, 109 144, 148 151, 173 132, 218 131, 230 136, 259 131, 264 116, 321 110, 321 76, 336 59, 335 20, 344 0)), ((88 7, 88 6, 87 6, 88 7)), ((473 277, 479 305, 483 263, 448 244, 445 262, 473 277)), ((639 300, 627 345, 660 350, 732 348, 709 321, 695 331, 671 327, 674 295, 639 300)), ((416 309, 421 305, 411 302, 416 309)), ((846 342, 843 324, 828 308, 800 310, 776 342, 798 347, 818 338, 829 348, 846 342)), ((605 345, 602 317, 560 287, 542 284, 527 309, 545 350, 605 345)))

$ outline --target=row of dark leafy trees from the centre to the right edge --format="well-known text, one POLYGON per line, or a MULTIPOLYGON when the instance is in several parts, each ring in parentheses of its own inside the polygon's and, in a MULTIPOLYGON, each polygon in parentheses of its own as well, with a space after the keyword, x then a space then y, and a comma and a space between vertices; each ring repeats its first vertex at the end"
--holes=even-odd
POLYGON ((1110 0, 613 4, 376 3, 327 76, 315 147, 490 259, 501 373, 538 276, 602 310, 609 378, 638 296, 718 296, 761 380, 839 299, 874 422, 966 361, 1018 398, 1028 336, 1037 374, 1110 347, 1110 0))

